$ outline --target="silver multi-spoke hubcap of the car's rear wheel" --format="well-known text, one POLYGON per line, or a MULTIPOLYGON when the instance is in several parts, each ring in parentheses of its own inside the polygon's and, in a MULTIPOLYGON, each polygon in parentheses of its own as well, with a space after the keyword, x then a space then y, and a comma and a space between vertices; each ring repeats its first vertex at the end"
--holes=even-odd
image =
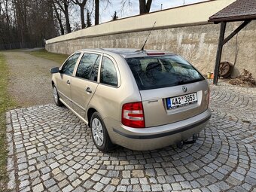
POLYGON ((100 123, 100 121, 96 118, 93 119, 93 122, 92 122, 92 131, 93 131, 94 142, 96 142, 98 146, 102 146, 103 139, 104 139, 102 123, 100 123))

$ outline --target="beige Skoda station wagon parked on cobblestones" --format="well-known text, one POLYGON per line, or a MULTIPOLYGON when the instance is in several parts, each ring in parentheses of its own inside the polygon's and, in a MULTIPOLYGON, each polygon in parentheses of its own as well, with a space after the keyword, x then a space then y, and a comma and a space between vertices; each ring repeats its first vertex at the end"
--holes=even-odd
POLYGON ((100 151, 193 142, 211 117, 209 85, 174 53, 78 50, 53 74, 53 98, 91 128, 100 151))

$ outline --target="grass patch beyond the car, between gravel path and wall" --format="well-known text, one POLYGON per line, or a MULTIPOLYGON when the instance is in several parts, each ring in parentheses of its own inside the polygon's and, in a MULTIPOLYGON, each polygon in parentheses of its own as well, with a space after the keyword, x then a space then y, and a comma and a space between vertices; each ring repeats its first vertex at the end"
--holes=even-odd
POLYGON ((49 59, 55 62, 58 62, 59 64, 62 64, 69 55, 65 54, 59 54, 59 53, 50 53, 47 50, 35 50, 31 52, 26 52, 31 54, 32 56, 38 56, 44 59, 49 59))

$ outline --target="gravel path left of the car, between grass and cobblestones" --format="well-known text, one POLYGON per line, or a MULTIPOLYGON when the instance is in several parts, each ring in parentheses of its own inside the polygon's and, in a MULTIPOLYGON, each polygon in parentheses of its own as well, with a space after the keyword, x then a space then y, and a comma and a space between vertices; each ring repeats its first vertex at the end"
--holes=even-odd
POLYGON ((23 52, 5 52, 11 69, 9 91, 18 107, 53 103, 50 68, 59 63, 23 52))

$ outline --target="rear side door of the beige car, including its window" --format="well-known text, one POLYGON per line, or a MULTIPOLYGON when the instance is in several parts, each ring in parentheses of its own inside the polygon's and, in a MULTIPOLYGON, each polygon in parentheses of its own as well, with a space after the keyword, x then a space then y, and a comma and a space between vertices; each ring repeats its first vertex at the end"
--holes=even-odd
POLYGON ((85 111, 90 99, 98 87, 99 63, 102 55, 99 53, 84 53, 72 79, 73 109, 81 117, 85 117, 85 111))

